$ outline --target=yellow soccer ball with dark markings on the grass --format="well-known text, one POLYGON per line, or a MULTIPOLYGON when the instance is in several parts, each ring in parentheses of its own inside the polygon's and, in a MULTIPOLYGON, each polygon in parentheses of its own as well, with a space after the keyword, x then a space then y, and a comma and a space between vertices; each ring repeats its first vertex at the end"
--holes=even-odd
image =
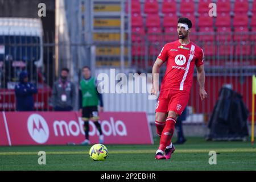
POLYGON ((94 144, 90 147, 89 155, 90 159, 94 161, 102 161, 105 160, 108 156, 109 152, 104 144, 94 144))

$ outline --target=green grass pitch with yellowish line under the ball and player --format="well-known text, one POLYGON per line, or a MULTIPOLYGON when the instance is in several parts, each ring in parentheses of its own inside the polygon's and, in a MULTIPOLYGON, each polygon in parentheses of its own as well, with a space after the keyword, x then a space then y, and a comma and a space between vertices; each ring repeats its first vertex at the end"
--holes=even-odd
MULTIPOLYGON (((175 140, 175 139, 174 139, 175 140)), ((154 145, 106 145, 104 162, 89 158, 90 146, 0 147, 0 170, 256 170, 256 148, 250 142, 206 142, 188 138, 176 145, 171 160, 155 160, 154 145), (38 151, 46 151, 46 165, 39 165, 38 151), (217 164, 209 165, 208 152, 217 152, 217 164)))

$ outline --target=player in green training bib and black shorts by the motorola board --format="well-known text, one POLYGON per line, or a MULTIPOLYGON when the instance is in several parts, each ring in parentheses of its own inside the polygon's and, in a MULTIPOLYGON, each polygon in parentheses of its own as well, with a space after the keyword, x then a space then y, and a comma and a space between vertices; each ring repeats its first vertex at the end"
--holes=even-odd
POLYGON ((104 135, 102 134, 101 125, 98 122, 98 104, 100 101, 100 111, 103 111, 102 94, 97 90, 97 80, 91 76, 90 68, 82 68, 83 78, 80 81, 79 101, 80 112, 82 113, 82 120, 84 121, 85 140, 81 144, 90 144, 89 140, 89 120, 94 122, 97 127, 100 138, 99 142, 104 142, 104 135))

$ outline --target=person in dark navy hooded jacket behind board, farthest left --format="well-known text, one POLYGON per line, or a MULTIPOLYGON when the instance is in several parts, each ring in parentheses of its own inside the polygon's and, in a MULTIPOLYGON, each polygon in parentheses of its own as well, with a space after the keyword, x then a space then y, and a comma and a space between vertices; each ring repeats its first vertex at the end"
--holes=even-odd
POLYGON ((19 74, 19 83, 15 86, 16 110, 32 111, 34 110, 33 95, 38 93, 36 85, 28 82, 28 73, 22 71, 19 74))

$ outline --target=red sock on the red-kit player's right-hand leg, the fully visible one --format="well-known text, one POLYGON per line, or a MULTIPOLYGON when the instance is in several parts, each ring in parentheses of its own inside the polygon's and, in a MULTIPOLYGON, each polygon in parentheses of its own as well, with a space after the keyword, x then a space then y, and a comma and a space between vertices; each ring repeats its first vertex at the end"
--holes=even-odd
POLYGON ((172 117, 166 119, 166 126, 163 129, 163 134, 160 138, 159 150, 164 151, 168 145, 171 143, 172 135, 174 135, 176 120, 172 117))

